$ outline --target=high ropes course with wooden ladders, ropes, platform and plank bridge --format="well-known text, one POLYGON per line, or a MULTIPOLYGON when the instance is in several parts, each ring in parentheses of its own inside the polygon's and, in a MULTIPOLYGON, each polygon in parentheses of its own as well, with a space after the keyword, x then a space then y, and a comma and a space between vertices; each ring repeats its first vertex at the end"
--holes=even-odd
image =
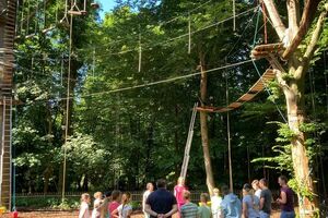
MULTIPOLYGON (((48 0, 43 0, 42 1, 43 4, 46 7, 48 0)), ((73 16, 74 15, 85 15, 86 14, 86 0, 84 0, 82 2, 82 5, 80 5, 81 3, 78 3, 77 0, 72 0, 71 2, 71 7, 69 8, 69 0, 66 0, 66 7, 65 7, 65 16, 55 24, 55 25, 46 25, 44 24, 44 29, 40 31, 40 33, 46 34, 48 32, 50 32, 51 29, 56 28, 56 25, 59 23, 63 23, 67 24, 68 26, 70 26, 70 47, 69 47, 69 57, 68 57, 68 62, 69 62, 69 66, 68 66, 68 75, 70 75, 70 61, 71 61, 71 52, 72 52, 72 25, 73 25, 73 16)), ((206 4, 208 4, 210 1, 207 1, 206 3, 199 5, 198 8, 194 9, 197 10, 206 4)), ((98 8, 98 5, 96 3, 91 3, 92 8, 98 8)), ((12 189, 12 185, 14 185, 14 181, 12 181, 12 174, 14 174, 14 172, 12 172, 12 169, 14 169, 14 167, 12 166, 12 159, 11 159, 11 129, 12 129, 12 106, 17 104, 16 101, 13 100, 13 71, 14 71, 14 39, 15 38, 33 38, 35 36, 36 33, 28 33, 28 27, 27 27, 27 32, 25 32, 24 34, 16 34, 19 33, 19 31, 22 32, 23 28, 23 24, 24 22, 27 22, 27 26, 28 26, 28 19, 32 17, 33 13, 30 13, 26 15, 26 17, 23 20, 23 14, 22 14, 22 20, 16 22, 16 17, 17 17, 17 5, 16 5, 16 1, 14 0, 0 0, 0 94, 1 94, 1 157, 0 157, 0 205, 4 206, 7 208, 12 209, 12 194, 14 194, 14 190, 12 189), (20 23, 21 22, 21 23, 20 23)), ((30 8, 28 8, 30 10, 30 8)), ((189 11, 192 12, 194 10, 189 11)), ((249 9, 247 11, 244 11, 239 14, 235 13, 235 2, 233 0, 233 15, 231 17, 227 17, 223 21, 220 22, 215 22, 213 24, 210 24, 208 26, 204 26, 200 29, 191 32, 190 28, 190 20, 188 22, 188 33, 177 36, 175 38, 171 38, 166 41, 164 41, 164 44, 167 44, 169 41, 176 40, 176 39, 180 39, 184 37, 188 38, 188 53, 190 53, 190 45, 191 45, 191 36, 195 33, 211 28, 213 26, 218 26, 221 23, 224 23, 226 21, 233 21, 233 28, 235 31, 235 23, 236 23, 236 17, 247 14, 248 12, 254 11, 254 12, 258 12, 260 13, 260 7, 256 7, 253 9, 249 9), (257 9, 257 10, 256 10, 257 9)), ((262 9, 262 11, 265 11, 265 9, 262 9)), ((36 13, 36 12, 35 12, 36 13)), ((44 12, 45 13, 45 12, 44 12)), ((45 13, 46 14, 46 13, 45 13)), ((265 13, 263 13, 265 16, 265 13)), ((56 15, 57 17, 57 15, 56 15)), ((259 16, 258 16, 259 17, 259 16)), ((265 16, 265 32, 267 32, 267 26, 266 26, 266 16, 265 16)), ((168 22, 173 22, 175 21, 176 17, 172 19, 168 22)), ((46 17, 45 17, 46 21, 46 17)), ((167 23, 168 23, 167 22, 167 23)), ((46 23, 46 22, 44 22, 46 23)), ((35 27, 36 28, 36 27, 35 27)), ((256 33, 255 33, 255 37, 257 35, 257 29, 258 28, 258 20, 257 20, 257 26, 256 26, 256 33)), ((150 47, 145 47, 142 44, 142 35, 139 33, 138 35, 139 38, 139 46, 137 49, 138 56, 139 56, 139 65, 138 65, 138 71, 140 72, 141 69, 141 63, 142 63, 142 51, 147 48, 150 47)), ((115 41, 114 41, 115 43, 115 41)), ((267 39, 265 39, 265 43, 267 43, 267 39)), ((156 43, 155 45, 159 45, 159 43, 156 43)), ((255 45, 254 45, 255 46, 255 45)), ((268 60, 270 60, 271 65, 273 65, 274 68, 279 66, 279 62, 274 59, 274 57, 272 57, 272 53, 274 52, 281 52, 283 51, 283 46, 282 44, 272 44, 272 45, 261 45, 261 46, 256 46, 254 47, 254 50, 251 51, 251 59, 248 60, 239 60, 239 62, 237 63, 229 63, 226 65, 223 66, 218 66, 214 69, 210 69, 207 70, 204 72, 196 72, 196 73, 191 73, 191 74, 187 74, 187 75, 183 75, 183 76, 177 76, 174 78, 166 78, 163 81, 156 81, 156 82, 152 82, 152 83, 145 83, 145 84, 139 84, 136 86, 131 86, 131 87, 121 87, 118 89, 113 89, 113 90, 107 90, 107 92, 102 92, 102 93, 94 93, 94 94, 86 94, 86 95, 82 95, 81 97, 86 97, 86 96, 92 96, 92 95, 102 95, 102 94, 106 94, 106 93, 117 93, 117 92, 124 92, 124 90, 128 90, 128 89, 134 89, 134 88, 142 88, 142 87, 147 87, 147 86, 153 86, 153 85, 157 85, 161 83, 171 83, 174 82, 176 80, 183 80, 183 78, 187 78, 187 77, 191 77, 191 76, 196 76, 196 75, 200 75, 201 73, 209 73, 209 72, 213 72, 213 71, 219 71, 219 70, 223 70, 226 68, 233 68, 233 66, 237 66, 244 63, 249 63, 253 62, 255 64, 255 60, 259 59, 259 58, 267 58, 268 60)), ((117 52, 117 55, 121 55, 125 52, 132 52, 136 51, 136 49, 130 49, 127 51, 121 51, 121 52, 117 52)), ((106 53, 107 56, 108 53, 106 53)), ((110 55, 110 53, 109 53, 110 55)), ((256 64, 255 64, 256 66, 256 64)), ((20 69, 20 66, 16 66, 17 69, 20 69)), ((24 69, 23 69, 24 70, 24 69)), ((28 69, 25 69, 28 70, 28 69)), ((183 164, 183 169, 181 169, 181 175, 185 177, 186 172, 187 172, 187 167, 188 167, 188 160, 189 160, 189 150, 190 150, 190 144, 191 144, 191 140, 192 140, 192 133, 194 133, 194 123, 195 123, 195 118, 196 118, 196 113, 197 111, 201 111, 201 112, 229 112, 231 110, 237 109, 239 108, 243 104, 250 101, 255 98, 255 96, 257 94, 259 94, 260 92, 262 92, 263 89, 267 89, 267 84, 274 80, 276 75, 274 75, 274 71, 272 69, 268 69, 262 75, 259 74, 259 80, 248 89, 247 93, 245 93, 244 95, 242 95, 238 99, 236 99, 234 102, 229 104, 225 107, 212 107, 212 106, 206 106, 202 104, 201 107, 198 106, 198 104, 195 104, 194 107, 194 111, 192 111, 192 117, 191 117, 191 122, 190 122, 190 126, 189 126, 189 135, 188 135, 188 140, 187 140, 187 144, 186 144, 186 150, 185 150, 185 160, 183 164)), ((68 80, 70 80, 70 76, 68 76, 68 80)), ((60 98, 60 99, 56 99, 56 100, 66 100, 67 101, 67 116, 69 114, 69 100, 72 99, 73 97, 70 95, 70 87, 69 87, 69 82, 68 82, 68 87, 67 87, 67 96, 65 98, 60 98)), ((68 118, 66 121, 66 124, 68 124, 68 118)), ((68 130, 68 126, 66 126, 66 130, 68 130)), ((67 135, 68 133, 66 133, 66 140, 68 137, 67 135)), ((66 157, 66 156, 65 156, 66 157)), ((66 166, 66 158, 65 158, 65 162, 63 166, 66 166)), ((66 167, 63 167, 63 169, 66 169, 66 167)), ((63 170, 63 182, 65 182, 65 174, 66 171, 63 170)), ((65 184, 62 185, 65 189, 65 184)), ((65 193, 65 190, 62 190, 62 194, 65 193)), ((65 195, 62 196, 65 197, 65 195)), ((14 204, 13 204, 14 205, 14 204)))

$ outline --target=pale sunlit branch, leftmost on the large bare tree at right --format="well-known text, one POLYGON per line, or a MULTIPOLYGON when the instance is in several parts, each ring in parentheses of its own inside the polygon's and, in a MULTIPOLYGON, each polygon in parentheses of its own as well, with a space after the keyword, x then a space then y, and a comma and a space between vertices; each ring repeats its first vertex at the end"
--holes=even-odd
POLYGON ((284 32, 285 32, 285 26, 283 25, 280 16, 279 16, 279 13, 276 9, 276 5, 274 5, 272 0, 262 0, 262 1, 266 4, 266 8, 267 8, 269 16, 270 16, 270 20, 273 23, 273 28, 277 32, 280 40, 282 40, 282 38, 284 36, 284 32))

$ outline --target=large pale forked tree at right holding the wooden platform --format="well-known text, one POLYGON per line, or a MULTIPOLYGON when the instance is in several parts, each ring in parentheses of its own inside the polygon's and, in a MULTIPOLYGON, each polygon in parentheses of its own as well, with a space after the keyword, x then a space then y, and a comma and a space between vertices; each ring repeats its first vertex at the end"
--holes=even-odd
MULTIPOLYGON (((298 1, 286 1, 288 28, 281 21, 272 0, 263 0, 268 14, 272 21, 274 31, 281 41, 284 41, 285 50, 281 58, 286 64, 281 64, 272 55, 268 60, 274 69, 277 80, 283 90, 288 124, 293 133, 292 160, 294 175, 298 187, 303 187, 298 193, 300 213, 302 216, 314 216, 318 209, 314 178, 309 170, 309 157, 306 152, 306 133, 302 130, 306 120, 305 111, 305 75, 309 69, 311 61, 317 48, 323 26, 328 12, 327 3, 321 1, 319 13, 317 12, 319 0, 308 0, 302 9, 298 1), (313 24, 313 21, 316 21, 313 24), (313 26, 313 29, 311 28, 313 26), (307 37, 306 37, 307 36, 307 37), (301 47, 302 44, 302 47, 301 47), (305 47, 305 48, 304 48, 305 47)), ((258 47, 259 48, 259 47, 258 47)), ((257 50, 257 48, 255 48, 257 50)))

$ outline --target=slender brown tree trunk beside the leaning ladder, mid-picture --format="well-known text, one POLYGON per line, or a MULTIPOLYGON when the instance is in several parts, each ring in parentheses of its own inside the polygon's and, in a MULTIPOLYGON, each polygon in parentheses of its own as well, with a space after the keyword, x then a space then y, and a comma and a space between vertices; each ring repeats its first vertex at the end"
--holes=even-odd
MULTIPOLYGON (((206 73, 206 64, 204 64, 204 55, 202 52, 199 53, 200 59, 200 98, 201 98, 201 107, 204 107, 204 102, 207 100, 207 88, 208 88, 208 76, 206 73)), ((209 131, 208 131, 208 114, 204 111, 200 111, 200 132, 201 132, 201 143, 202 143, 202 152, 203 152, 203 160, 204 168, 207 173, 207 185, 210 195, 212 195, 212 191, 214 189, 214 179, 213 171, 211 165, 211 156, 209 150, 209 131)))

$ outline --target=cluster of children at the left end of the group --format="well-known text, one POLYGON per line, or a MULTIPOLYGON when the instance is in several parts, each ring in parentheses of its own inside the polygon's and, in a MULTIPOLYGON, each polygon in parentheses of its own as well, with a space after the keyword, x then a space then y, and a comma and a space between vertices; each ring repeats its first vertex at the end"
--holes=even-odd
POLYGON ((105 195, 105 197, 102 192, 96 192, 94 198, 90 216, 90 195, 87 193, 81 195, 79 218, 129 218, 131 216, 131 194, 128 192, 121 194, 119 191, 113 191, 112 195, 105 195))

